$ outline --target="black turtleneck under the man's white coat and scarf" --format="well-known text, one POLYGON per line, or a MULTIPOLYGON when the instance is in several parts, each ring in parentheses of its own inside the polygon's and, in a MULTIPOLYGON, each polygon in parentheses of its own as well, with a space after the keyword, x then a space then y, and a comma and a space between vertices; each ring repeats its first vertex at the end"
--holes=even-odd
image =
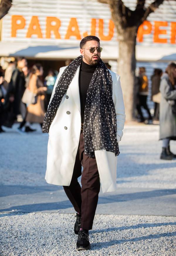
POLYGON ((86 104, 87 90, 97 65, 92 66, 81 61, 79 70, 79 96, 81 103, 81 123, 84 123, 84 108, 86 104))

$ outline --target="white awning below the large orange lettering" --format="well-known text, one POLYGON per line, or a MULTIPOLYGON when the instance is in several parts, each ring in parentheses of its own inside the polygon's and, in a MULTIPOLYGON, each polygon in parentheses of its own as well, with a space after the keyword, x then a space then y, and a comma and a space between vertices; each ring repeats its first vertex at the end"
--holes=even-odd
MULTIPOLYGON (((77 46, 57 45, 28 45, 26 43, 0 42, 0 56, 25 56, 40 59, 74 59, 79 56, 77 46)), ((101 53, 103 60, 117 60, 119 58, 117 46, 103 45, 101 53)), ((140 46, 136 45, 137 61, 176 61, 176 47, 169 46, 140 46)))

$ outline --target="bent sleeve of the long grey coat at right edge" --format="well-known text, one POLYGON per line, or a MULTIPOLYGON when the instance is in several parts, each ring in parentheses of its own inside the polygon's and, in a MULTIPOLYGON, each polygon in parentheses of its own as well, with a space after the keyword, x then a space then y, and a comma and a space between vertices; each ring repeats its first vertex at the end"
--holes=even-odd
POLYGON ((176 100, 176 90, 172 90, 168 81, 163 78, 160 83, 160 92, 166 100, 176 100))

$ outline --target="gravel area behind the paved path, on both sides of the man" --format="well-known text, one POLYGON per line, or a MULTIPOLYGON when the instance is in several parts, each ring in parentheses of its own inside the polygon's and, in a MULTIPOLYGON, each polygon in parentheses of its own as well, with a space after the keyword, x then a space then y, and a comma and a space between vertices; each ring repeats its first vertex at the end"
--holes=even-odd
MULTIPOLYGON (((18 125, 0 134, 0 183, 2 185, 45 185, 48 134, 19 134, 18 125)), ((119 188, 176 188, 176 160, 160 160, 162 144, 158 125, 126 125, 119 143, 117 184, 119 188)), ((176 154, 176 143, 171 141, 176 154)))

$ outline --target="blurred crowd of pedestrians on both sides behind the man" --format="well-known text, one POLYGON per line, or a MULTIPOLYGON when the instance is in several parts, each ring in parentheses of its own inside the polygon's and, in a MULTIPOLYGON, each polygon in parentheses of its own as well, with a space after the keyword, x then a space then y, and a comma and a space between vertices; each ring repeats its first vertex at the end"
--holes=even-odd
MULTIPOLYGON (((56 78, 56 73, 49 70, 43 79, 41 64, 29 68, 24 57, 19 57, 16 64, 11 61, 5 71, 0 67, 0 133, 4 132, 2 126, 13 126, 18 114, 23 119, 19 132, 34 132, 32 123, 39 123, 42 127, 56 78)), ((160 158, 171 160, 176 158, 170 151, 170 140, 176 139, 176 64, 170 63, 164 73, 161 69, 154 69, 150 79, 153 116, 147 105, 148 78, 145 67, 140 67, 136 76, 137 118, 139 122, 149 124, 160 121, 160 140, 163 141, 160 158), (142 108, 148 118, 144 117, 142 108)))

